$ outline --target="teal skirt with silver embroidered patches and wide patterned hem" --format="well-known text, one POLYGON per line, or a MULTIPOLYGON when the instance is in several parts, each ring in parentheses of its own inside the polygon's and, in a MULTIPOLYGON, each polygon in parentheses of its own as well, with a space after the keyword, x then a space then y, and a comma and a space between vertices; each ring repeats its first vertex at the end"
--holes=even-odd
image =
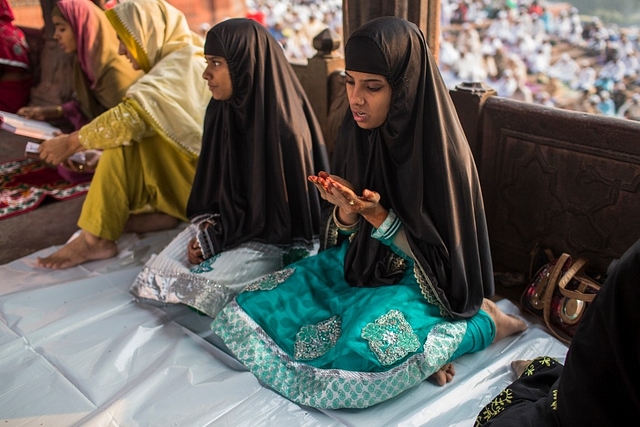
POLYGON ((303 405, 365 408, 491 344, 487 313, 443 318, 422 296, 413 268, 396 285, 349 286, 347 244, 250 284, 213 321, 263 383, 303 405))

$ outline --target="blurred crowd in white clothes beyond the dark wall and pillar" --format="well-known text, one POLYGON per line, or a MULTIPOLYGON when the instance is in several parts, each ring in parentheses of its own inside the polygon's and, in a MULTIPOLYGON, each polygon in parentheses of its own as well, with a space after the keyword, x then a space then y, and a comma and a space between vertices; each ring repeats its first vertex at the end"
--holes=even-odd
MULTIPOLYGON (((569 3, 441 2, 439 64, 450 88, 482 82, 507 98, 640 120, 635 29, 605 25, 569 3)), ((314 56, 313 37, 325 28, 342 36, 341 0, 247 0, 247 7, 291 61, 314 56)))

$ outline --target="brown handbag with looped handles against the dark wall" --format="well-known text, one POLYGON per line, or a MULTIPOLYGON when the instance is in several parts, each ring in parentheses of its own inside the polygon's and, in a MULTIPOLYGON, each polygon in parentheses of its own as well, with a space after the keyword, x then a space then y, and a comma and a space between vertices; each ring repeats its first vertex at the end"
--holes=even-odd
MULTIPOLYGON (((553 258, 547 251, 549 258, 553 258)), ((584 258, 563 253, 540 267, 520 298, 525 311, 542 319, 561 341, 573 335, 600 290, 600 284, 584 273, 584 258)))

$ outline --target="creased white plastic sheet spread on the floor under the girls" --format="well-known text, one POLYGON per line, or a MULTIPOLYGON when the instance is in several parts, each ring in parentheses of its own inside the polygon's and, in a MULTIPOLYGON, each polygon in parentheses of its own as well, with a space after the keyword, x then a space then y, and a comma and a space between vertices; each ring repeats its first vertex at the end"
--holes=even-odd
POLYGON ((0 426, 470 427, 514 379, 512 360, 564 361, 567 347, 532 324, 458 359, 444 387, 425 381, 363 410, 302 407, 227 355, 209 318, 129 293, 178 231, 125 235, 118 257, 68 270, 34 268, 57 247, 0 266, 0 426))

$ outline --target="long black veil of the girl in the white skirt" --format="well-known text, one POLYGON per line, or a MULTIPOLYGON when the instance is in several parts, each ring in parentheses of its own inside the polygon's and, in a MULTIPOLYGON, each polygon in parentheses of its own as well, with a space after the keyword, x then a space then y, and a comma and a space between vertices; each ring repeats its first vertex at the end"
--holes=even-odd
POLYGON ((208 32, 205 54, 220 55, 220 48, 233 95, 207 108, 187 216, 219 215, 207 229, 216 252, 247 241, 309 245, 321 206, 307 177, 328 167, 311 105, 264 26, 221 22, 208 32))

